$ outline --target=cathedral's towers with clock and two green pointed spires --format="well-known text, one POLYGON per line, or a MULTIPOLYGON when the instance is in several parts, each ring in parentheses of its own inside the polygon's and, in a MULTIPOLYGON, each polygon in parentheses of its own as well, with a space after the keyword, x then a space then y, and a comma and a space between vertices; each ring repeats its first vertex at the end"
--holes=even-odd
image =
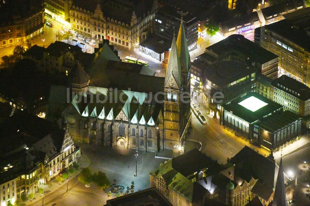
POLYGON ((176 149, 183 144, 190 121, 190 58, 183 20, 177 40, 172 40, 168 67, 165 77, 164 125, 165 147, 176 149), (188 92, 187 95, 184 95, 188 92), (182 95, 183 93, 183 95, 182 95), (185 97, 185 98, 183 98, 185 97), (188 98, 187 98, 188 97, 188 98))

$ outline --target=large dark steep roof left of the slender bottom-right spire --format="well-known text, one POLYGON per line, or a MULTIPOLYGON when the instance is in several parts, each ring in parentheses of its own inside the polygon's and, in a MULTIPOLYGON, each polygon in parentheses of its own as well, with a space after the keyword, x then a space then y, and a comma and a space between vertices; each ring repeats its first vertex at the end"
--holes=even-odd
POLYGON ((245 146, 229 161, 235 164, 234 176, 247 182, 258 179, 251 191, 268 200, 273 192, 275 163, 245 146))

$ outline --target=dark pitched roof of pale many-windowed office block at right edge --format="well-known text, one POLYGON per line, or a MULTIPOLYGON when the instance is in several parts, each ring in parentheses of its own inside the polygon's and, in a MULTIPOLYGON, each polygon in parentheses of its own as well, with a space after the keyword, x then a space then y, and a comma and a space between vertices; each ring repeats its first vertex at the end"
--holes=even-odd
MULTIPOLYGON (((310 38, 310 37, 309 37, 310 38)), ((272 81, 272 86, 285 91, 286 93, 296 97, 297 99, 300 99, 302 101, 306 101, 310 99, 310 88, 286 75, 282 75, 277 79, 274 79, 272 81), (279 84, 279 85, 278 85, 279 84), (283 86, 283 87, 281 87, 283 86), (291 90, 291 91, 290 91, 291 90), (294 92, 293 92, 294 91, 294 92), (295 93, 296 92, 296 93, 295 93)))

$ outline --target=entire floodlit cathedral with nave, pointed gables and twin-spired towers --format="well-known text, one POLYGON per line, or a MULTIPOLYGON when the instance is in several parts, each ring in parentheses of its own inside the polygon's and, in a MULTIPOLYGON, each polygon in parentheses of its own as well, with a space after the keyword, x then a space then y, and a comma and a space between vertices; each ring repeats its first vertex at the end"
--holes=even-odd
POLYGON ((104 54, 89 67, 77 65, 68 76, 70 104, 63 111, 73 139, 178 152, 191 119, 189 67, 183 22, 172 41, 165 78, 144 65, 104 54))

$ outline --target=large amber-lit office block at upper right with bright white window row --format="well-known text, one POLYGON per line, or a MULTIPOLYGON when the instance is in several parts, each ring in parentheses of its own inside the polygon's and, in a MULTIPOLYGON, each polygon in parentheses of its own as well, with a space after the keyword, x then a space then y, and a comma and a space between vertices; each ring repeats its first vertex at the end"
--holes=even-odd
POLYGON ((257 31, 258 38, 255 39, 264 49, 278 56, 281 74, 307 86, 310 83, 309 13, 265 25, 257 31))

